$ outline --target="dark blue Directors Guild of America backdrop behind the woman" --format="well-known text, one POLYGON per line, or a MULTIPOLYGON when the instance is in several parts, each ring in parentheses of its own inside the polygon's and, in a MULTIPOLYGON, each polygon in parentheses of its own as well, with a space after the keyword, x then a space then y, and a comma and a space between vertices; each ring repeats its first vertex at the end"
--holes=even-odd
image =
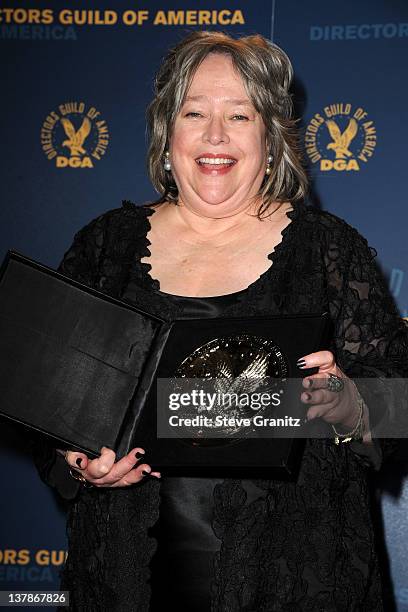
MULTIPOLYGON (((155 198, 145 109, 166 50, 195 29, 259 32, 288 53, 311 202, 378 251, 408 316, 404 0, 2 2, 0 256, 56 267, 74 233, 155 198)), ((65 503, 1 422, 0 590, 58 588, 65 503)), ((389 609, 408 610, 408 453, 373 475, 389 609)), ((48 608, 49 609, 49 608, 48 608)))

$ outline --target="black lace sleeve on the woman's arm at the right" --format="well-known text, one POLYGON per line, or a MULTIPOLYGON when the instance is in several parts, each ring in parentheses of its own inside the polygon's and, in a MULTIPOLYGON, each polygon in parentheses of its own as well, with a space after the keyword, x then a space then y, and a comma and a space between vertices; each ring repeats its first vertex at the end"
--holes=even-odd
MULTIPOLYGON (((401 384, 408 375, 408 333, 375 256, 365 238, 344 224, 329 240, 325 263, 337 363, 355 381, 370 423, 392 427, 405 420, 401 384), (396 380, 391 384, 389 378, 396 380)), ((391 438, 350 444, 365 465, 376 469, 396 446, 391 438)))

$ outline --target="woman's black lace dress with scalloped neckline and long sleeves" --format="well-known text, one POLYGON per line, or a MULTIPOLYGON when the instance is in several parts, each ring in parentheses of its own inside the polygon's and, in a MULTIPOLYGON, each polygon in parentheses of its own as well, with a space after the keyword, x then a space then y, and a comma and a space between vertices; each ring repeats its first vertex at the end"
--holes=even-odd
MULTIPOLYGON (((146 234, 153 213, 124 203, 97 218, 76 235, 60 269, 162 317, 177 317, 183 305, 160 292, 149 265, 140 261, 149 254, 146 234)), ((269 256, 271 267, 223 303, 219 316, 327 310, 335 328, 332 350, 344 372, 378 381, 407 376, 406 327, 365 239, 337 217, 303 204, 288 216, 282 242, 269 256)), ((361 387, 360 392, 370 409, 369 394, 361 387)), ((386 409, 395 410, 397 403, 390 397, 386 409)), ((370 412, 370 418, 377 416, 370 412)), ((164 601, 170 598, 175 574, 166 579, 163 570, 167 554, 175 554, 189 568, 188 581, 194 579, 192 571, 206 576, 198 580, 198 591, 187 592, 179 582, 176 590, 186 602, 178 602, 181 610, 382 610, 367 472, 392 448, 391 440, 370 446, 309 440, 295 483, 179 479, 174 488, 163 476, 162 483, 152 478, 124 489, 84 489, 69 478, 51 447, 36 446, 42 478, 72 499, 62 579, 71 609, 147 612, 151 584, 153 604, 159 589, 164 601), (172 515, 177 498, 185 503, 172 515), (184 555, 189 510, 192 537, 201 541, 188 545, 184 555), (183 513, 186 530, 163 533, 166 520, 180 525, 183 513), (194 559, 197 550, 208 554, 194 559), (188 599, 194 593, 202 602, 197 608, 188 599)))

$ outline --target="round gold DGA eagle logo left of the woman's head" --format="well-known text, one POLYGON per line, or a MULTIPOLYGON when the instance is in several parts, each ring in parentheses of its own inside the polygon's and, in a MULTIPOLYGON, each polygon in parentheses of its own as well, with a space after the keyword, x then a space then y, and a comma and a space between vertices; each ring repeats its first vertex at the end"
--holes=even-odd
POLYGON ((57 168, 93 168, 109 144, 106 121, 95 107, 84 102, 60 104, 41 128, 41 146, 57 168))

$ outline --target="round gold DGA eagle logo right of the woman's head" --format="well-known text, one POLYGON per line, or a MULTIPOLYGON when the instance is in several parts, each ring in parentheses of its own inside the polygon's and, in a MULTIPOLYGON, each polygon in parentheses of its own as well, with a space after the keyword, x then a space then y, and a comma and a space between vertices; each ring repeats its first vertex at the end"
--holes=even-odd
POLYGON ((330 104, 316 113, 305 133, 306 152, 320 170, 360 170, 373 155, 377 132, 367 112, 349 103, 330 104))

